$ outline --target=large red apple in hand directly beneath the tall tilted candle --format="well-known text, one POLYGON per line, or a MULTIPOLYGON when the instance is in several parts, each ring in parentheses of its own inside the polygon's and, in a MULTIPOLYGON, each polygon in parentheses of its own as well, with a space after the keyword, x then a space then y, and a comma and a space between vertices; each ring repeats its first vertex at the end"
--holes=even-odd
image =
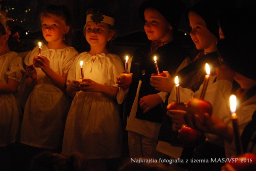
POLYGON ((209 102, 199 98, 192 98, 188 102, 187 115, 194 116, 195 114, 198 114, 199 120, 203 124, 204 113, 208 113, 210 116, 212 115, 212 105, 209 102))

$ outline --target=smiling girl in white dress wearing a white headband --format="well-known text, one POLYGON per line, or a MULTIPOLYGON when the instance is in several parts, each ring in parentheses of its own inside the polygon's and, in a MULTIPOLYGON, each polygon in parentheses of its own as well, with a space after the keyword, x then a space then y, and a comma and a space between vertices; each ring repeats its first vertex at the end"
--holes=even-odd
MULTIPOLYGON (((115 103, 116 77, 124 66, 121 59, 106 48, 116 35, 114 18, 100 11, 89 11, 84 36, 91 46, 79 54, 68 73, 67 93, 73 97, 65 127, 62 153, 80 152, 95 167, 104 168, 107 159, 122 153, 121 120, 115 103), (84 79, 80 62, 83 61, 84 79)), ((111 163, 111 162, 110 162, 111 163)))

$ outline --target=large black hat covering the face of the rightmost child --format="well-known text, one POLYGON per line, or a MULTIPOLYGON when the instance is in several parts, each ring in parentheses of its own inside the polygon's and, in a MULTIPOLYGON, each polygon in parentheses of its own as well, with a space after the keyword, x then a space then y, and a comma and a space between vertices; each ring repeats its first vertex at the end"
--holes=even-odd
POLYGON ((218 53, 231 69, 256 80, 256 35, 252 23, 256 20, 255 9, 240 8, 229 14, 220 20, 225 38, 217 43, 218 53))

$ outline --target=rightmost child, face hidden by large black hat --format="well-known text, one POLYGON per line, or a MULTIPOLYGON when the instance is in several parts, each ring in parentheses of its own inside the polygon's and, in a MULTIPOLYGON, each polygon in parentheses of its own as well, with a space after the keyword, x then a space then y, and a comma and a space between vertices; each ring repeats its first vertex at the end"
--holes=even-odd
MULTIPOLYGON (((240 133, 243 132, 241 136, 243 150, 244 152, 256 154, 256 75, 255 66, 251 62, 256 53, 255 43, 253 43, 256 40, 256 36, 250 34, 254 30, 250 21, 255 19, 255 11, 252 8, 240 8, 229 11, 225 15, 220 18, 220 35, 223 40, 220 40, 217 44, 218 52, 224 64, 219 67, 216 84, 222 87, 222 96, 226 97, 224 101, 229 101, 230 93, 228 94, 227 92, 232 89, 231 82, 235 79, 240 85, 240 88, 236 91, 238 101, 236 114, 238 116, 239 131, 240 133), (236 27, 234 27, 235 25, 236 27), (228 86, 224 87, 223 82, 228 82, 228 86), (250 142, 251 138, 252 142, 250 142)), ((224 113, 225 111, 222 112, 224 113)), ((227 113, 230 116, 230 112, 227 111, 227 113)), ((236 155, 230 117, 222 121, 217 120, 215 115, 209 117, 206 114, 205 123, 207 124, 199 124, 198 117, 195 118, 195 123, 196 128, 225 138, 226 158, 236 155)))

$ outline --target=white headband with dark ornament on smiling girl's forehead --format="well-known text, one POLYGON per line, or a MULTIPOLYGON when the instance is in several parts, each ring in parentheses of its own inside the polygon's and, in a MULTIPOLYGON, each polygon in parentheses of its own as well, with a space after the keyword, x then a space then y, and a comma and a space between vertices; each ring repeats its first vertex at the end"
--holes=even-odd
POLYGON ((88 14, 86 16, 86 22, 87 21, 92 21, 95 24, 98 24, 102 21, 103 23, 107 23, 107 24, 110 24, 112 26, 114 26, 114 24, 115 24, 115 19, 114 18, 108 17, 106 15, 102 15, 102 13, 100 13, 99 11, 93 12, 92 14, 88 14))

